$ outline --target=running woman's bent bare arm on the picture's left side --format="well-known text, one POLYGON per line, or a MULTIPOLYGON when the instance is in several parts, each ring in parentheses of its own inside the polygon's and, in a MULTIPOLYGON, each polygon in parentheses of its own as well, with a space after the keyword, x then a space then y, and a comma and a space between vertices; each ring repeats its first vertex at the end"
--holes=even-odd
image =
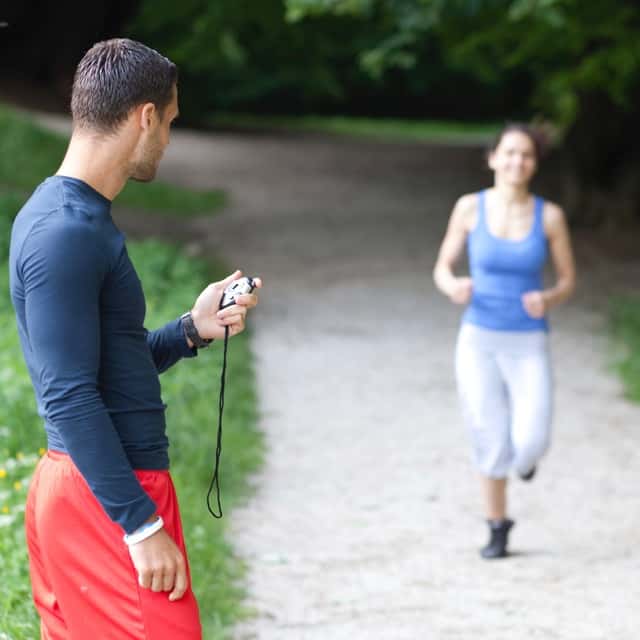
POLYGON ((462 255, 467 234, 474 224, 472 218, 475 208, 475 194, 462 196, 456 202, 433 269, 433 279, 438 289, 457 304, 466 304, 471 298, 471 278, 456 277, 453 269, 462 255))

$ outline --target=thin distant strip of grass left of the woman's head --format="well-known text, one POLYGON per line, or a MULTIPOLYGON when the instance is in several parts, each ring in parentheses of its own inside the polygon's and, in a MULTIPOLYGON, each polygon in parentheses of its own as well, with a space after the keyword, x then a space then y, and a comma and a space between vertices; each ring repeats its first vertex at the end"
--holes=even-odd
POLYGON ((207 124, 213 127, 249 130, 330 133, 388 141, 484 143, 493 139, 499 123, 469 123, 441 120, 400 120, 346 116, 256 116, 218 113, 207 124))

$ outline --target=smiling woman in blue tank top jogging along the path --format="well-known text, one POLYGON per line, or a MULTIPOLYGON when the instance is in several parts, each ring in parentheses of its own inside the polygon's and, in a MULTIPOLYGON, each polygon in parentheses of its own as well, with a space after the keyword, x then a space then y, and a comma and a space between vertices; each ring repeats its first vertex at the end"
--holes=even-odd
POLYGON ((565 216, 529 191, 540 145, 526 125, 504 128, 489 152, 492 188, 456 203, 434 269, 437 287, 467 304, 456 378, 476 465, 482 474, 489 542, 483 558, 507 555, 507 476, 531 480, 549 447, 552 380, 547 311, 575 286, 565 216), (468 248, 471 277, 454 275, 468 248), (555 285, 544 289, 551 256, 555 285))

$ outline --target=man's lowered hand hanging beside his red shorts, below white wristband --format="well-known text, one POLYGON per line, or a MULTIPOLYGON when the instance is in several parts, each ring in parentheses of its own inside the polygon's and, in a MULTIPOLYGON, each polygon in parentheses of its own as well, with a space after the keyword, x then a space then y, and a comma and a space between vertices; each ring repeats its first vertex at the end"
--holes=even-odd
POLYGON ((143 589, 171 591, 169 600, 172 602, 182 598, 189 586, 187 563, 165 529, 131 545, 129 554, 138 572, 138 584, 143 589))

